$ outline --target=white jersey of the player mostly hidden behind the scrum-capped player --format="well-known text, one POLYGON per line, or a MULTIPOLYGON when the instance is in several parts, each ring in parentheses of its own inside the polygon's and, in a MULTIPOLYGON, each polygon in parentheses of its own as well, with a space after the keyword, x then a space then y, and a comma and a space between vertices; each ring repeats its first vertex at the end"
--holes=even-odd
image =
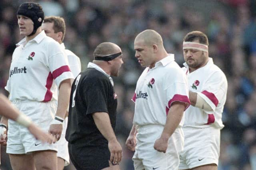
POLYGON ((64 43, 61 43, 60 46, 62 47, 62 49, 65 50, 65 53, 68 56, 68 63, 69 63, 70 70, 73 73, 74 78, 76 78, 76 76, 78 76, 78 74, 81 72, 80 59, 72 51, 66 49, 64 43))

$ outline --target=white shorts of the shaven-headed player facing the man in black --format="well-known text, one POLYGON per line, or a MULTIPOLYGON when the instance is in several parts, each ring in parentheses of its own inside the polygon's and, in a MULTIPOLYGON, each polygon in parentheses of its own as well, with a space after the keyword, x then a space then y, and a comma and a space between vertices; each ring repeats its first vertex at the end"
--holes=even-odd
POLYGON ((170 137, 166 153, 154 149, 154 143, 160 138, 163 129, 163 125, 145 125, 137 128, 137 145, 132 158, 135 170, 178 169, 179 152, 184 145, 182 128, 178 127, 170 137))

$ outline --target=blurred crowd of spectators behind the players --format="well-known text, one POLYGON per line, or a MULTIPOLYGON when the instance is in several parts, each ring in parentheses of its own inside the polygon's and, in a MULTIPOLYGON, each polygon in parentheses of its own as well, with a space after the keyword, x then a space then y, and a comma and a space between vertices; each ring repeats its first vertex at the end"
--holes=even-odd
MULTIPOLYGON (((228 79, 222 114, 218 170, 256 170, 256 1, 255 0, 33 0, 45 16, 66 21, 64 43, 80 57, 82 69, 93 60, 95 47, 104 41, 122 48, 124 64, 114 78, 118 95, 116 134, 122 143, 122 170, 133 170, 133 153, 124 145, 132 127, 136 81, 144 68, 134 57, 134 38, 144 29, 158 31, 168 53, 184 63, 182 41, 189 31, 209 38, 209 56, 228 79), (255 105, 254 105, 255 104, 255 105)), ((16 11, 24 0, 0 1, 0 92, 9 76, 12 52, 23 37, 16 11)), ((32 87, 31 87, 32 88, 32 87)), ((156 103, 157 104, 157 103, 156 103)), ((200 139, 199 139, 200 140, 200 139)), ((5 147, 2 170, 9 170, 5 147)), ((65 170, 73 170, 71 166, 65 170)))

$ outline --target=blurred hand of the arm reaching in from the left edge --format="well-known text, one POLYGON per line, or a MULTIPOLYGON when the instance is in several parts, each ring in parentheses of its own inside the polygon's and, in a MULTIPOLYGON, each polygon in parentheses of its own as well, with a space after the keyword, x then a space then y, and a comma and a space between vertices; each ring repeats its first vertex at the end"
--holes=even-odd
POLYGON ((28 126, 28 130, 30 131, 30 133, 32 135, 34 135, 34 137, 39 140, 42 141, 42 143, 56 143, 56 139, 54 138, 54 136, 45 133, 44 131, 42 131, 39 127, 37 127, 36 125, 34 125, 34 123, 30 124, 28 126))

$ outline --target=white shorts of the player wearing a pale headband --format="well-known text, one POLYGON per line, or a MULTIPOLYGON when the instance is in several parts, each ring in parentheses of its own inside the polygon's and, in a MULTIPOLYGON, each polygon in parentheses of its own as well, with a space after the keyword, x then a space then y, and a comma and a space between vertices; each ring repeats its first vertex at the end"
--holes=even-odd
POLYGON ((220 156, 220 129, 216 127, 184 127, 185 145, 180 153, 179 170, 206 164, 218 165, 220 156))

